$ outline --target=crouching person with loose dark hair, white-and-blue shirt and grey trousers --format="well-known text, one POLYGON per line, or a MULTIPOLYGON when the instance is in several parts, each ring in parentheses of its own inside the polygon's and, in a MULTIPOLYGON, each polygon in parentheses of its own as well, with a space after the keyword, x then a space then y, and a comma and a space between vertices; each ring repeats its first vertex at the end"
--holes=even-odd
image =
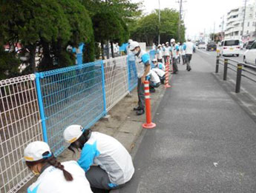
POLYGON ((79 125, 68 126, 63 135, 70 144, 68 149, 82 150, 78 163, 93 191, 119 189, 131 180, 131 155, 115 138, 79 125))

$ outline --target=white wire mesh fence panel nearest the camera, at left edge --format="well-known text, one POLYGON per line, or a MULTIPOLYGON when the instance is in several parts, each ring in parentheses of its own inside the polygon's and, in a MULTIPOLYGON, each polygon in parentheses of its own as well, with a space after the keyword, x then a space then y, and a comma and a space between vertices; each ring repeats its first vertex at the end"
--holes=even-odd
POLYGON ((23 161, 28 143, 42 140, 35 75, 0 81, 0 192, 17 192, 33 174, 23 161))

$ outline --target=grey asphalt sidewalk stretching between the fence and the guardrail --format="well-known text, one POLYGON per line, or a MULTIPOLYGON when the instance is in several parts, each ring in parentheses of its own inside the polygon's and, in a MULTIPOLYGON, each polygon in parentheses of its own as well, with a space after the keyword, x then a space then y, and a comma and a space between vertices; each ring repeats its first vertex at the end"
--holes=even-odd
POLYGON ((157 127, 137 144, 134 177, 119 192, 256 192, 255 121, 202 53, 191 67, 179 65, 154 116, 157 127))

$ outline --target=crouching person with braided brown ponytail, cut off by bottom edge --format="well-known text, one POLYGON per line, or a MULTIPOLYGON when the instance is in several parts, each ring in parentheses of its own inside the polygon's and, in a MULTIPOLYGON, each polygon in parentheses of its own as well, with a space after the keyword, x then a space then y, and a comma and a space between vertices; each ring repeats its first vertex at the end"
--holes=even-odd
POLYGON ((38 176, 29 186, 27 193, 91 193, 85 171, 74 160, 59 163, 42 141, 30 143, 24 149, 26 165, 38 176))

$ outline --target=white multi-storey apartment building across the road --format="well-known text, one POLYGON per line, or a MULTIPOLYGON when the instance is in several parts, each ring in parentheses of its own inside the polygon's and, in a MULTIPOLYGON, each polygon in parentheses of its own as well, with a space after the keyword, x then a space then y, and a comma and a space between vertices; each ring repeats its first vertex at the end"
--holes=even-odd
POLYGON ((243 26, 244 7, 230 10, 226 16, 225 38, 239 38, 243 41, 255 39, 256 33, 256 4, 246 6, 246 16, 243 26), (243 29, 244 27, 244 29, 243 29))

